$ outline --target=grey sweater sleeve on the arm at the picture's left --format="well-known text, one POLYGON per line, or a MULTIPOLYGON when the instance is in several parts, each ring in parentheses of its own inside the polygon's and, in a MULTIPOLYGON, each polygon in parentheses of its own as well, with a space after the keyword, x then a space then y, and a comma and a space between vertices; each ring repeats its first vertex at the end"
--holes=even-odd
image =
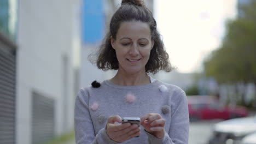
POLYGON ((77 144, 114 144, 118 143, 111 140, 105 128, 102 128, 98 134, 95 135, 94 126, 92 124, 89 112, 89 94, 80 89, 75 99, 74 109, 74 127, 75 127, 75 141, 77 144))

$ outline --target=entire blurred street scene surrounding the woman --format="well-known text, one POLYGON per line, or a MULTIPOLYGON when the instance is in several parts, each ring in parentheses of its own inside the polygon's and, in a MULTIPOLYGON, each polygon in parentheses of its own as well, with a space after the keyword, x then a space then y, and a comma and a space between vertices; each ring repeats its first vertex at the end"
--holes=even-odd
MULTIPOLYGON (((256 1, 144 2, 176 67, 152 76, 187 93, 189 143, 255 144, 256 1)), ((0 144, 75 143, 78 90, 116 73, 88 55, 120 3, 0 0, 0 144)))

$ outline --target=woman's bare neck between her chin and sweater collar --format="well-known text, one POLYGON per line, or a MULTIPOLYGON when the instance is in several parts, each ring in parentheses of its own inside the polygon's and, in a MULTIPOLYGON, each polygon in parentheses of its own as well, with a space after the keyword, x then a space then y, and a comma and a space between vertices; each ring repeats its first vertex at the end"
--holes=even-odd
POLYGON ((118 70, 118 73, 110 81, 120 86, 142 86, 150 83, 150 78, 146 71, 127 74, 118 70))

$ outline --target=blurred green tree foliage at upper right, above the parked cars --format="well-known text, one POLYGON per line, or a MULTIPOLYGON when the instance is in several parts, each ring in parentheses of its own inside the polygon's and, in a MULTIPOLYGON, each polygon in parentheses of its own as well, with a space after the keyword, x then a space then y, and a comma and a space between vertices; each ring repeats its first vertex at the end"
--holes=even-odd
POLYGON ((240 9, 243 15, 228 23, 222 46, 204 64, 206 76, 219 83, 256 83, 256 1, 240 9))

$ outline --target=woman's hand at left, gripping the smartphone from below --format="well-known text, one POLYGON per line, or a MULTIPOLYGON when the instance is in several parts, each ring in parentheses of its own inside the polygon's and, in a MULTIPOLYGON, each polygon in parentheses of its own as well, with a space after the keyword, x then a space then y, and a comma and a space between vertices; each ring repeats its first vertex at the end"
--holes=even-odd
POLYGON ((141 128, 137 124, 115 124, 115 122, 121 123, 122 118, 118 115, 110 116, 106 127, 108 137, 114 141, 124 142, 141 134, 141 128))

